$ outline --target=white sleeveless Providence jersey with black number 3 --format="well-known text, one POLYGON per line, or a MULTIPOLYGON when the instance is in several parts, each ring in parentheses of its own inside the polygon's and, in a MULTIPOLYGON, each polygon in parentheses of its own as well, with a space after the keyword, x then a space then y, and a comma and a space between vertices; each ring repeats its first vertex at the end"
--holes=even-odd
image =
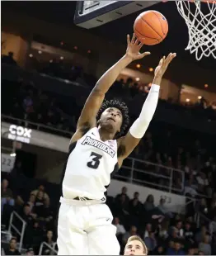
POLYGON ((102 141, 94 127, 71 145, 63 178, 63 197, 105 201, 110 174, 117 170, 117 141, 102 141))

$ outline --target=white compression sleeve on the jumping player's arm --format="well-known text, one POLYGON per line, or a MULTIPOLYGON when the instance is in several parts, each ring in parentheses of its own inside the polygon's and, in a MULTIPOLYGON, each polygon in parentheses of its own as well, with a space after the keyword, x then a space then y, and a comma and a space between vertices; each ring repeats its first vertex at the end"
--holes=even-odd
POLYGON ((137 139, 141 139, 145 134, 150 121, 153 119, 154 112, 157 107, 158 97, 159 97, 160 86, 153 84, 150 91, 148 92, 148 97, 146 98, 142 111, 134 124, 130 127, 130 134, 137 139))

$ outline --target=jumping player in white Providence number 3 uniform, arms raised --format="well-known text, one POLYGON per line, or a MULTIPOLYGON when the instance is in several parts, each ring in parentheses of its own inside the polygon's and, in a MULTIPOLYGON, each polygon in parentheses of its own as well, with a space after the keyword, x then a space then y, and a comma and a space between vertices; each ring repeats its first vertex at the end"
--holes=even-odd
POLYGON ((124 102, 102 102, 120 72, 133 60, 141 59, 143 46, 133 36, 127 37, 124 57, 96 83, 77 121, 77 130, 69 146, 68 162, 63 177, 58 224, 59 255, 119 255, 113 216, 106 206, 106 187, 125 158, 142 139, 157 107, 163 73, 176 54, 160 60, 153 85, 143 104, 139 118, 130 127, 128 108, 124 102))

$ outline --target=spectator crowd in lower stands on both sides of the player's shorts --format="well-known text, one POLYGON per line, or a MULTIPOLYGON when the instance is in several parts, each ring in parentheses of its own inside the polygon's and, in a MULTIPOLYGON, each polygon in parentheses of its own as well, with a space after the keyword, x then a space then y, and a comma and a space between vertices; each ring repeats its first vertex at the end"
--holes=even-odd
MULTIPOLYGON (((7 176, 10 180, 10 175, 7 176)), ((12 186, 11 186, 12 187, 12 186)), ((29 193, 13 191, 8 180, 2 180, 2 225, 7 227, 10 213, 16 211, 26 221, 23 247, 29 254, 38 254, 40 244, 46 242, 51 248, 56 247, 56 230, 58 209, 50 204, 51 191, 47 192, 44 185, 29 193)), ((58 198, 55 198, 58 201, 58 198)), ((162 198, 155 205, 153 195, 146 201, 139 200, 139 192, 134 198, 127 195, 127 187, 122 187, 116 197, 107 197, 107 204, 113 213, 113 224, 121 244, 121 252, 131 235, 139 235, 153 255, 210 255, 216 253, 216 192, 212 198, 200 198, 192 201, 180 214, 169 211, 162 198), (195 218, 195 209, 201 217, 195 218), (203 216, 203 217, 202 217, 203 216)), ((16 227, 21 228, 17 222, 16 227)), ((7 255, 17 255, 16 232, 11 239, 7 255)), ((45 245, 43 255, 54 254, 45 245)))

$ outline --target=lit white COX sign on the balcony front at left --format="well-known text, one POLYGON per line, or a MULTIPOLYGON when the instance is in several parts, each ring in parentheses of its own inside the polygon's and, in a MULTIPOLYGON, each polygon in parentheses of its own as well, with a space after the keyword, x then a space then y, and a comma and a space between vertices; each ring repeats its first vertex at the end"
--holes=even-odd
POLYGON ((9 127, 8 139, 30 143, 31 129, 22 126, 11 125, 9 127))

